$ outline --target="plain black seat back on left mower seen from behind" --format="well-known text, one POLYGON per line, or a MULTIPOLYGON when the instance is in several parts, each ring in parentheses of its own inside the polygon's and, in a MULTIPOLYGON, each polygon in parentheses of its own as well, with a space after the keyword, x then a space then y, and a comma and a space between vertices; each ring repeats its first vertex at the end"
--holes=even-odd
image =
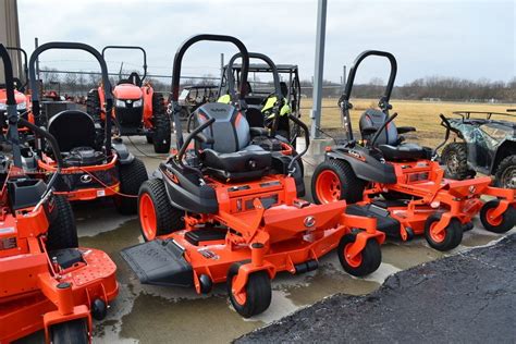
POLYGON ((61 151, 71 151, 76 147, 96 147, 95 122, 86 112, 61 111, 50 119, 48 131, 56 137, 61 151))

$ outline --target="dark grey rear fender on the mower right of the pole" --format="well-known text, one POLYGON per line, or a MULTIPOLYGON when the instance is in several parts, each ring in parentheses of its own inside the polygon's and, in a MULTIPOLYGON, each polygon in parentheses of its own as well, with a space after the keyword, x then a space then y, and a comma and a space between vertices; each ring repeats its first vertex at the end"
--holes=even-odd
POLYGON ((396 183, 396 174, 392 164, 382 163, 369 155, 361 155, 360 158, 358 158, 341 150, 331 150, 327 152, 325 159, 346 161, 356 176, 364 181, 381 184, 396 183))

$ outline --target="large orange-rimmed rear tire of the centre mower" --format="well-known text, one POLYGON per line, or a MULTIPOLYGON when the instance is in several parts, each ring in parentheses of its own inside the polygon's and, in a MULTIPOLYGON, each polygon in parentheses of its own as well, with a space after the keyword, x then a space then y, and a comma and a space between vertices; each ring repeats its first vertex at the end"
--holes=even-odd
POLYGON ((185 228, 185 212, 173 207, 169 201, 162 180, 145 182, 138 195, 138 216, 142 235, 146 242, 157 235, 167 235, 185 228), (145 202, 151 205, 145 205, 145 202))

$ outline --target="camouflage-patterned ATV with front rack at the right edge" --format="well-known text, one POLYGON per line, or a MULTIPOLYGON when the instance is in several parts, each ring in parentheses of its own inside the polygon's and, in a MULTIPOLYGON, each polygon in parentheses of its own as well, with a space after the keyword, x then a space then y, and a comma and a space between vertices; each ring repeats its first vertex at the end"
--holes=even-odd
POLYGON ((497 187, 516 188, 516 122, 493 120, 492 115, 514 118, 511 113, 457 111, 449 118, 457 139, 446 145, 441 156, 446 174, 464 180, 476 172, 494 175, 497 187), (471 115, 484 115, 472 118, 471 115))

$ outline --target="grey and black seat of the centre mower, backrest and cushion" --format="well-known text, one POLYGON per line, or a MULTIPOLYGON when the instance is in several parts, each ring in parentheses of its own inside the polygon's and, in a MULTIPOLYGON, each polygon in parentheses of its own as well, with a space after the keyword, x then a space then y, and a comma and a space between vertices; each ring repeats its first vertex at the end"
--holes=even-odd
POLYGON ((205 130, 213 144, 197 146, 205 171, 223 181, 242 181, 261 177, 269 170, 271 152, 250 144, 249 124, 245 116, 231 105, 206 103, 195 111, 197 124, 214 118, 216 122, 205 130))

